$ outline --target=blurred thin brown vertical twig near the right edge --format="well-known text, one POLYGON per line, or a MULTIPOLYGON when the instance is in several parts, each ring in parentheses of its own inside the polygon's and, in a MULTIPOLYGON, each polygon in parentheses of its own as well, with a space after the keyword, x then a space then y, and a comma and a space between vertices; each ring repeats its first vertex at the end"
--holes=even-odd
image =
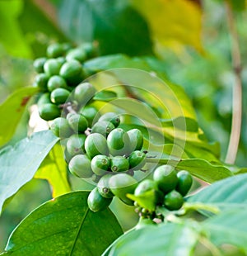
POLYGON ((226 17, 231 36, 231 56, 235 73, 235 84, 232 87, 231 135, 225 161, 227 164, 234 164, 240 143, 240 130, 242 120, 242 81, 240 42, 235 27, 231 4, 228 1, 226 1, 226 17))

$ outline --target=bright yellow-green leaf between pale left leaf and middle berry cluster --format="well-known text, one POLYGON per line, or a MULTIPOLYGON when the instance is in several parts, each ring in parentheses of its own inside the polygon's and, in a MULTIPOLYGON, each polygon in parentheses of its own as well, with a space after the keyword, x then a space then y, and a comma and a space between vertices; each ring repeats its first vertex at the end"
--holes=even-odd
POLYGON ((68 183, 67 164, 63 157, 63 149, 61 145, 55 145, 44 159, 35 178, 47 179, 53 187, 53 197, 58 197, 65 193, 71 192, 68 183))

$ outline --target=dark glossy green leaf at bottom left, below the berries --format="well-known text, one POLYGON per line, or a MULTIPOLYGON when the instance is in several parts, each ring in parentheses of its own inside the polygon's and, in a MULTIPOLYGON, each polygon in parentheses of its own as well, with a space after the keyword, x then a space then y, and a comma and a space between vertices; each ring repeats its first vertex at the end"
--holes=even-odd
POLYGON ((100 255, 123 231, 107 208, 94 213, 89 192, 71 192, 31 212, 9 238, 7 255, 100 255))

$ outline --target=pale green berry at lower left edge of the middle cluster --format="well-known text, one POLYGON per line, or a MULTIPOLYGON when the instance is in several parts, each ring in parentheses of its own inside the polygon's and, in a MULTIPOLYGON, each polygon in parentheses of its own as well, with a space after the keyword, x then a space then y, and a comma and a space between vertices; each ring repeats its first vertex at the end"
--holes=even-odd
POLYGON ((86 154, 75 155, 68 164, 69 171, 79 178, 91 178, 93 172, 91 170, 91 160, 86 154))

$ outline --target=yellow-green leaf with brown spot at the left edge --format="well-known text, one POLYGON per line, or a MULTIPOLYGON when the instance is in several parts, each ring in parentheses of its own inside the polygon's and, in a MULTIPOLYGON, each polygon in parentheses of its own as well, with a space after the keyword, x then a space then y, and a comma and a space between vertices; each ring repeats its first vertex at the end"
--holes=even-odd
POLYGON ((16 126, 21 120, 26 104, 30 97, 38 92, 38 88, 21 88, 12 93, 5 102, 0 105, 0 146, 6 144, 14 134, 16 126))

